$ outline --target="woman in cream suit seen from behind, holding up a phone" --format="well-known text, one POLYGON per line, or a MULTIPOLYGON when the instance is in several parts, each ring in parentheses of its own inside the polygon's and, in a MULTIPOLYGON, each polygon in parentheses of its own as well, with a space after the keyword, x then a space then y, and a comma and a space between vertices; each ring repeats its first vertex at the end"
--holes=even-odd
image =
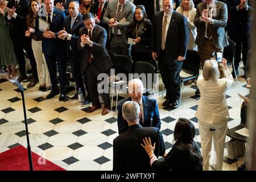
POLYGON ((226 60, 222 60, 222 68, 225 78, 220 77, 216 60, 205 61, 202 74, 197 79, 197 87, 201 98, 196 110, 199 120, 199 133, 201 138, 201 152, 204 160, 204 170, 209 169, 210 155, 216 157, 216 162, 211 166, 216 170, 222 169, 224 156, 226 126, 228 126, 229 111, 226 104, 226 90, 233 82, 233 76, 226 66, 226 60), (216 131, 210 131, 215 127, 216 131), (215 152, 210 154, 212 140, 215 152))

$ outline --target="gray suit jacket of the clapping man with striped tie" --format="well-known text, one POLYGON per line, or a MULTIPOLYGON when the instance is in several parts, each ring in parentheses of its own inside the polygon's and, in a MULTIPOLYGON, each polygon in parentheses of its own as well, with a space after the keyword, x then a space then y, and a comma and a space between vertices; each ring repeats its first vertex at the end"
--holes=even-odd
MULTIPOLYGON (((115 17, 117 13, 117 2, 118 0, 109 1, 108 7, 106 8, 103 20, 104 23, 109 24, 109 20, 115 17)), ((119 26, 118 28, 121 30, 123 41, 127 44, 127 27, 129 27, 130 23, 133 22, 133 15, 135 11, 135 5, 130 1, 127 1, 125 5, 123 5, 123 9, 121 11, 119 17, 119 26)), ((112 34, 112 28, 109 27, 109 40, 112 34)))

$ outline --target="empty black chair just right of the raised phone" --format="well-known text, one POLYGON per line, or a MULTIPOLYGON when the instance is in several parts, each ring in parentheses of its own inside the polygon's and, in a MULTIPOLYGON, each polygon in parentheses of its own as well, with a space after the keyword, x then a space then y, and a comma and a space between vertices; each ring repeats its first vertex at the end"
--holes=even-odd
MULTIPOLYGON (((233 65, 233 71, 234 71, 235 70, 234 54, 235 54, 235 49, 236 49, 236 43, 231 39, 228 39, 228 41, 229 41, 229 46, 224 47, 223 57, 226 59, 228 66, 233 65)), ((236 80, 237 80, 236 71, 234 71, 234 74, 235 74, 236 80)), ((237 80, 237 84, 238 84, 238 80, 237 80)))

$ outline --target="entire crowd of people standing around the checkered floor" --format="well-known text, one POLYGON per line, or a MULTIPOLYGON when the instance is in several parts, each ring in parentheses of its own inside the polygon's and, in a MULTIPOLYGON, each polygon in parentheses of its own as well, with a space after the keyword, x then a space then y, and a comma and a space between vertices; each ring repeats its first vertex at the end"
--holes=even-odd
MULTIPOLYGON (((249 0, 0 0, 0 65, 6 65, 9 76, 15 78, 18 64, 17 80, 28 80, 26 55, 32 70, 27 88, 39 82, 39 90, 51 90, 47 99, 59 95, 64 101, 69 85, 68 61, 76 83, 75 95, 69 101, 78 100, 81 90, 81 105, 92 104, 85 109, 92 113, 101 108, 97 85, 101 80, 97 77, 113 67, 110 49, 130 57, 133 64, 146 61, 159 69, 166 88, 162 106, 176 109, 179 74, 187 49, 198 51, 203 72, 197 80, 201 99, 196 117, 202 155, 193 140, 195 126, 184 118, 176 123, 174 147, 164 154, 158 103, 142 96, 143 84, 134 79, 128 85, 130 97, 118 105, 119 136, 113 143, 113 169, 208 170, 213 140, 217 158, 214 168, 221 170, 229 117, 225 92, 233 84, 234 72, 238 74, 241 52, 243 65, 248 67, 251 11, 249 0), (42 24, 48 27, 42 29, 42 24), (225 59, 222 68, 211 59, 212 52, 223 52, 229 45, 228 36, 237 44, 232 73, 225 59), (222 129, 210 133, 212 126, 222 129), (136 157, 124 158, 135 152, 136 157), (160 162, 158 156, 165 159, 160 162)), ((102 115, 106 115, 110 111, 109 93, 104 92, 102 97, 102 115)))

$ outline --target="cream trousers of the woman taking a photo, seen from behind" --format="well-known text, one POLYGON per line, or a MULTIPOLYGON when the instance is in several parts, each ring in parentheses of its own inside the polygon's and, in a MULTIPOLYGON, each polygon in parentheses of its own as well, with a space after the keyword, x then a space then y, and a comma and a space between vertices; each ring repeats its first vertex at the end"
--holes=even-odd
POLYGON ((204 160, 204 171, 209 170, 210 157, 213 159, 211 166, 218 170, 222 170, 224 147, 226 138, 226 127, 228 120, 221 121, 214 124, 205 123, 199 120, 199 133, 201 138, 201 153, 204 160), (215 131, 210 131, 210 127, 215 127, 215 131), (223 127, 222 129, 220 129, 223 127), (217 130, 219 129, 219 130, 217 130), (212 140, 214 150, 212 152, 212 140))

